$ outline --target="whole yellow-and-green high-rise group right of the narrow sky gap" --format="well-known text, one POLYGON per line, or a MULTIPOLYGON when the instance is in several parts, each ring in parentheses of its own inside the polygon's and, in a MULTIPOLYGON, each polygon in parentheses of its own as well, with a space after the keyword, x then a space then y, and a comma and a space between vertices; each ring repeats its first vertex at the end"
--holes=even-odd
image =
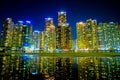
POLYGON ((77 50, 120 50, 120 29, 118 23, 99 23, 87 20, 76 24, 77 50))

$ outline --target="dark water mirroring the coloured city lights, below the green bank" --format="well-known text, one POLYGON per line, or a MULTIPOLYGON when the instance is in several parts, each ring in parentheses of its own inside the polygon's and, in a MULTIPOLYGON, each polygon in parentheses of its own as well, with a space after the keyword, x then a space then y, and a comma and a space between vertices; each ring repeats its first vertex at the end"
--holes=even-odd
POLYGON ((0 80, 120 80, 120 57, 1 55, 0 80))

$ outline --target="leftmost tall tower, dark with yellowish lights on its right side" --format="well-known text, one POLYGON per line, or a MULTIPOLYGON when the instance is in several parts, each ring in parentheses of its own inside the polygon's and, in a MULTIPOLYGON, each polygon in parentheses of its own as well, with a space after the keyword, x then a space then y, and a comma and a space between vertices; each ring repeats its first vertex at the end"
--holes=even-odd
POLYGON ((11 48, 12 46, 12 36, 13 36, 13 27, 14 24, 11 18, 7 18, 2 26, 1 33, 1 43, 0 46, 7 48, 11 48))

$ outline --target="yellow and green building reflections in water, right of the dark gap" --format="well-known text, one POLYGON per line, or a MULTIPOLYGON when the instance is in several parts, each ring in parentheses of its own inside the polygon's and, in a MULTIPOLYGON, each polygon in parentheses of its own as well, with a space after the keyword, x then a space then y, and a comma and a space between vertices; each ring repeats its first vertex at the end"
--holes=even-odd
POLYGON ((115 80, 120 78, 120 58, 79 58, 78 76, 79 79, 108 79, 115 80), (84 63, 83 63, 84 61, 84 63))

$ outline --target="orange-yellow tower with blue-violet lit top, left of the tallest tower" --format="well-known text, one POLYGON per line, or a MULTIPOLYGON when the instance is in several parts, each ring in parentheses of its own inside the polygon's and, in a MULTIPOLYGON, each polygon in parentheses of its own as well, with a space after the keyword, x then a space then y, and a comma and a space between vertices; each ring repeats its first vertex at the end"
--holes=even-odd
POLYGON ((52 18, 45 18, 45 51, 53 52, 56 49, 56 33, 52 18))

